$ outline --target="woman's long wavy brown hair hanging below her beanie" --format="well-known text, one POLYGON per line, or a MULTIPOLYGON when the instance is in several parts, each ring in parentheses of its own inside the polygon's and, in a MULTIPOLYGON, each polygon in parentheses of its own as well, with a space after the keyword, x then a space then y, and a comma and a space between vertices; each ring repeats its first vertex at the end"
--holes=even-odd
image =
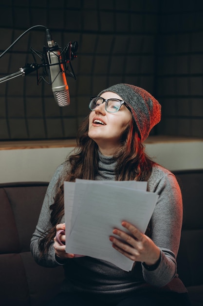
MULTIPOLYGON (((98 174, 98 146, 88 136, 89 116, 80 126, 77 134, 76 152, 67 158, 68 169, 63 181, 75 181, 75 178, 94 179, 98 174)), ((128 127, 121 135, 121 146, 114 155, 117 159, 115 169, 116 180, 148 181, 154 162, 145 153, 135 121, 130 120, 128 127)), ((55 195, 50 206, 52 228, 39 241, 41 254, 48 252, 55 237, 55 226, 64 215, 63 185, 55 195)))

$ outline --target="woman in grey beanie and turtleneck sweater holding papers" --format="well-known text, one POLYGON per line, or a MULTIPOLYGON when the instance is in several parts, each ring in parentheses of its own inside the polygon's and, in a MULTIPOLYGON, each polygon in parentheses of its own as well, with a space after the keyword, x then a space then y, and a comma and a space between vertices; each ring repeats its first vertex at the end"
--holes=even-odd
MULTIPOLYGON (((64 266, 61 294, 49 305, 190 305, 176 273, 180 188, 175 176, 153 162, 142 144, 161 119, 159 102, 140 87, 117 84, 91 98, 89 107, 89 118, 78 132, 77 151, 56 170, 31 240, 39 264, 64 266), (56 232, 65 230, 63 181, 75 178, 148 181, 148 191, 159 195, 145 234, 128 220, 122 222, 125 231, 115 228, 109 233, 112 247, 135 262, 130 272, 110 262, 67 254, 56 239, 56 232)), ((65 235, 59 238, 65 241, 65 235)))

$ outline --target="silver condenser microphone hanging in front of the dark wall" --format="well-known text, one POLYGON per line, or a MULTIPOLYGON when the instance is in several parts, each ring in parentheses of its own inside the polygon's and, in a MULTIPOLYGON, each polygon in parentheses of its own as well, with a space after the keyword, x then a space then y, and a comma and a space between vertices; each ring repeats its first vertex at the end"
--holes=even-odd
POLYGON ((49 47, 47 58, 54 98, 58 106, 68 106, 70 104, 69 87, 60 50, 58 45, 52 40, 49 29, 46 30, 46 34, 49 47))

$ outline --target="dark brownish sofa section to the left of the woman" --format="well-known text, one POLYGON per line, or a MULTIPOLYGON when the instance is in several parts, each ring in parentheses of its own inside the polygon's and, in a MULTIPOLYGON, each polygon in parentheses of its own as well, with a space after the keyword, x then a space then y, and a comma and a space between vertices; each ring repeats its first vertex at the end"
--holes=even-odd
POLYGON ((42 306, 59 292, 62 266, 39 266, 30 252, 48 183, 0 184, 0 305, 42 306))

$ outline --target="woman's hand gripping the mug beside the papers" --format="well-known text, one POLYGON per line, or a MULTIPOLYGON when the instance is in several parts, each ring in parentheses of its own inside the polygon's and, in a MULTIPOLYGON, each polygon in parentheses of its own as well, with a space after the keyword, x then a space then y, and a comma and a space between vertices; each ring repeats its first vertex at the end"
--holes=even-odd
MULTIPOLYGON (((65 228, 66 228, 65 223, 57 224, 56 225, 56 232, 59 231, 59 230, 65 230, 65 228)), ((65 243, 66 236, 65 235, 59 235, 59 239, 61 240, 62 243, 65 243)), ((58 243, 57 240, 56 240, 56 236, 54 238, 54 248, 55 248, 55 255, 61 260, 64 260, 64 259, 67 259, 67 258, 74 258, 74 254, 66 253, 65 244, 61 245, 60 243, 58 243)))

